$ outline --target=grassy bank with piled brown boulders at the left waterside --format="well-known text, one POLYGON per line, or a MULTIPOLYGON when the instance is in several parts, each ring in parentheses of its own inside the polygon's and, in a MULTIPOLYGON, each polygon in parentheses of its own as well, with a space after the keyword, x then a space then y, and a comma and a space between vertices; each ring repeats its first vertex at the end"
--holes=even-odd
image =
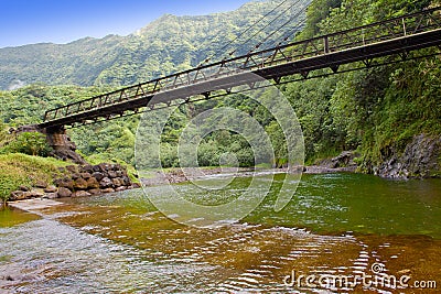
POLYGON ((85 197, 139 188, 126 166, 100 163, 75 165, 52 157, 20 153, 0 155, 0 198, 85 197))

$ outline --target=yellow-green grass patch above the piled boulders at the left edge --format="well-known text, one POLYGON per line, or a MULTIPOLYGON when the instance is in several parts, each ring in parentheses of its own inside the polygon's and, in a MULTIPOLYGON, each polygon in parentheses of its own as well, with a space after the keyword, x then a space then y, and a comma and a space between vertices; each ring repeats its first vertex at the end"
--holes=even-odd
POLYGON ((0 155, 0 198, 6 202, 11 192, 20 186, 31 187, 37 181, 52 183, 60 174, 57 167, 72 163, 52 157, 31 156, 21 153, 0 155))

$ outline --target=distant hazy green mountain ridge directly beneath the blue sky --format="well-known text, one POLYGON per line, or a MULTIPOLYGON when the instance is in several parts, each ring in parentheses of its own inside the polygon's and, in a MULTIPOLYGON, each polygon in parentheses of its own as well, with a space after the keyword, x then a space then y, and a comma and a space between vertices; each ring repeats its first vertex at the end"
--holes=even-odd
POLYGON ((220 59, 225 57, 220 52, 246 53, 268 36, 261 47, 293 36, 309 2, 267 0, 227 13, 166 14, 128 36, 0 48, 0 89, 35 83, 120 86, 146 81, 197 66, 212 55, 212 61, 220 59), (232 41, 236 42, 224 47, 232 41))

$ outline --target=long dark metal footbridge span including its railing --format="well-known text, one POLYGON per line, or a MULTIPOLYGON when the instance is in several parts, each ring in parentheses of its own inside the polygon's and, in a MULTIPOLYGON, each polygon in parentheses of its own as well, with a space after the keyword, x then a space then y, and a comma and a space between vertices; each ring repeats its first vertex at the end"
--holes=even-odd
POLYGON ((279 80, 288 75, 306 76, 312 70, 326 67, 337 70, 344 64, 361 61, 368 63, 373 58, 407 54, 430 46, 441 46, 441 8, 293 42, 126 87, 49 110, 39 127, 56 129, 126 111, 138 111, 147 107, 159 92, 162 99, 157 104, 195 95, 208 97, 213 91, 229 90, 247 83, 244 73, 279 80))

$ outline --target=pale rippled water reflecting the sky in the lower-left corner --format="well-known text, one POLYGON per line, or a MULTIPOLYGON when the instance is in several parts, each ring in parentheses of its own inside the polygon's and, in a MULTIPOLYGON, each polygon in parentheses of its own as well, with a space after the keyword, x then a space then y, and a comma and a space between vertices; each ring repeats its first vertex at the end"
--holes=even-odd
POLYGON ((209 279, 206 273, 215 270, 189 260, 152 261, 139 248, 49 219, 0 235, 11 257, 0 262, 0 272, 15 280, 0 280, 0 285, 18 293, 171 293, 178 285, 191 293, 200 290, 195 279, 209 279))

